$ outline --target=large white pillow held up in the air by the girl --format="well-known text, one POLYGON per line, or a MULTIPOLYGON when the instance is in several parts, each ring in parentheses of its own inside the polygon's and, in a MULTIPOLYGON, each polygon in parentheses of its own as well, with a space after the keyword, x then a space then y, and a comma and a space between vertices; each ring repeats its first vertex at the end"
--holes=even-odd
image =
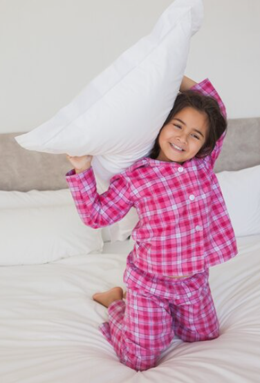
POLYGON ((40 152, 93 155, 95 175, 108 182, 154 144, 180 88, 190 38, 202 19, 202 0, 174 1, 150 35, 52 119, 15 137, 17 142, 40 152))

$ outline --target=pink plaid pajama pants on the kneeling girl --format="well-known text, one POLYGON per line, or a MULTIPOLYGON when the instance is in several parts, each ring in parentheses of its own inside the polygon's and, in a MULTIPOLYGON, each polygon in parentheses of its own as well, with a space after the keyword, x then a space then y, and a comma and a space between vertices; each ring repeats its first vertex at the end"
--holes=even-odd
POLYGON ((109 322, 100 330, 120 362, 144 371, 156 366, 176 334, 184 342, 219 336, 219 321, 208 284, 208 270, 171 279, 140 271, 127 260, 126 302, 109 306, 109 322))

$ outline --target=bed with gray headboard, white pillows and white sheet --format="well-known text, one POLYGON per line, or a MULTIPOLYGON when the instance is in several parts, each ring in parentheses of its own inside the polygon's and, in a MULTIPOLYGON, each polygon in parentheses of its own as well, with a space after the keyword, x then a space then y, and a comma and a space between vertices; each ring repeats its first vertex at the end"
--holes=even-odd
POLYGON ((70 164, 22 149, 18 134, 0 135, 0 381, 259 383, 260 118, 228 121, 215 168, 239 247, 210 269, 221 335, 195 343, 175 337, 158 366, 143 372, 120 364, 98 330, 106 308, 91 299, 124 288, 133 240, 124 233, 111 242, 109 229, 97 237, 82 226, 74 231, 82 223, 64 177, 70 164))

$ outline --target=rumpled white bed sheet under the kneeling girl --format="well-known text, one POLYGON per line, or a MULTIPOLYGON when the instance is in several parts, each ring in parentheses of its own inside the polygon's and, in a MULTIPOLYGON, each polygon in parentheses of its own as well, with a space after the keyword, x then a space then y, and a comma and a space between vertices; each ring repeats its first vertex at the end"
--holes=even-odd
POLYGON ((132 245, 0 268, 1 383, 260 382, 260 235, 239 238, 239 255, 210 271, 221 336, 196 343, 176 337, 156 368, 138 373, 120 364, 98 331, 106 308, 91 299, 124 286, 132 245))

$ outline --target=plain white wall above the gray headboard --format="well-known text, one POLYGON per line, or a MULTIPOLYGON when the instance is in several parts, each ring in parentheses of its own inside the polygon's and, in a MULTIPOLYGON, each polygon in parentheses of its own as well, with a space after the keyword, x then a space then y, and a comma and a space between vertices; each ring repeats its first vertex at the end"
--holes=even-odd
MULTIPOLYGON (((147 35, 171 0, 0 0, 0 132, 52 117, 147 35)), ((204 0, 186 74, 210 77, 228 117, 260 116, 260 1, 204 0)))

